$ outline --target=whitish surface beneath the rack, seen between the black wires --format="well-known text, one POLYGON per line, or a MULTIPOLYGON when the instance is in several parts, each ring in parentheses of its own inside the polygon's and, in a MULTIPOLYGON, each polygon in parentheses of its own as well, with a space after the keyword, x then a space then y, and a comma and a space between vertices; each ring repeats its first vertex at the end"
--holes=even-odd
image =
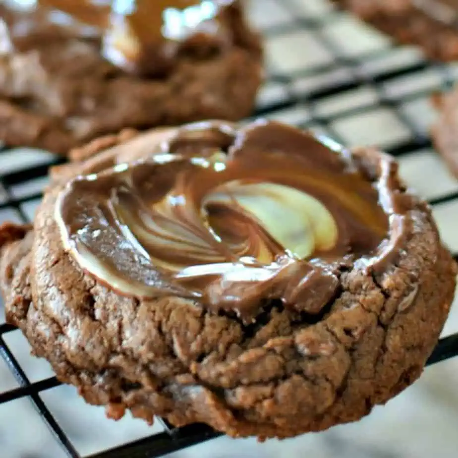
MULTIPOLYGON (((289 89, 299 98, 297 104, 276 112, 273 117, 338 135, 350 145, 377 143, 389 146, 410 139, 411 133, 393 107, 377 106, 378 94, 369 83, 312 104, 308 104, 307 97, 351 81, 351 70, 344 66, 329 68, 319 75, 312 74, 316 66, 332 64, 329 44, 336 46, 342 56, 357 59, 359 64, 354 68, 366 75, 415 65, 423 59, 417 50, 396 48, 388 51, 389 40, 386 37, 347 14, 333 12, 326 0, 251 0, 251 8, 256 14, 256 24, 263 31, 275 30, 275 38, 270 38, 267 46, 270 73, 289 75, 294 72, 296 75, 289 89), (318 25, 314 29, 300 29, 298 20, 311 20, 318 25), (279 28, 292 24, 291 21, 295 25, 291 26, 289 34, 277 33, 279 28), (374 54, 380 50, 387 51, 383 55, 374 54), (361 109, 365 108, 369 109, 362 112, 361 109), (329 125, 325 122, 308 124, 313 111, 320 116, 332 115, 332 122, 329 125)), ((455 65, 454 69, 458 76, 458 66, 455 65)), ((416 93, 436 88, 437 77, 435 70, 428 70, 413 77, 392 79, 385 85, 391 97, 409 95, 409 100, 401 101, 398 106, 401 113, 423 133, 427 132, 434 112, 424 93, 418 96, 416 93)), ((260 108, 281 105, 287 99, 286 85, 270 82, 261 91, 258 105, 260 108)), ((48 153, 27 149, 2 153, 0 177, 34 165, 47 164, 51 159, 48 153)), ((419 150, 403 156, 400 162, 401 174, 424 197, 437 199, 458 191, 458 181, 434 151, 419 150)), ((45 185, 46 179, 39 178, 12 186, 9 191, 19 199, 36 196, 45 185)), ((0 188, 0 202, 2 198, 4 192, 0 188)), ((23 204, 21 210, 32 217, 38 203, 39 200, 32 200, 23 204)), ((458 202, 438 205, 434 214, 445 241, 458 251, 458 202)), ((12 208, 0 209, 0 223, 7 220, 19 222, 20 215, 12 208)), ((457 331, 458 306, 455 306, 444 335, 457 331)), ((30 380, 38 381, 52 375, 45 361, 29 355, 29 346, 19 331, 4 338, 30 380)), ((458 359, 429 368, 412 388, 387 406, 376 408, 368 418, 325 433, 265 444, 257 444, 254 440, 221 438, 178 452, 173 458, 456 458, 457 374, 458 359)), ((0 359, 0 392, 14 387, 16 382, 0 359)), ((156 431, 129 416, 118 423, 105 419, 103 408, 87 406, 70 387, 44 392, 42 399, 82 454, 95 453, 156 431)), ((160 426, 155 428, 160 429, 160 426)), ((27 400, 0 405, 1 458, 64 456, 27 400)))

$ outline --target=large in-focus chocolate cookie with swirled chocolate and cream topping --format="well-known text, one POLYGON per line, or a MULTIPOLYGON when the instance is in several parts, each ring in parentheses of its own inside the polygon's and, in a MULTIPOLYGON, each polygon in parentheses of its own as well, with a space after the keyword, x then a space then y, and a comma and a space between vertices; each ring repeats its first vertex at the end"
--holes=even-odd
POLYGON ((456 267, 390 157, 268 121, 104 148, 0 231, 8 322, 86 401, 284 438, 419 377, 456 267))

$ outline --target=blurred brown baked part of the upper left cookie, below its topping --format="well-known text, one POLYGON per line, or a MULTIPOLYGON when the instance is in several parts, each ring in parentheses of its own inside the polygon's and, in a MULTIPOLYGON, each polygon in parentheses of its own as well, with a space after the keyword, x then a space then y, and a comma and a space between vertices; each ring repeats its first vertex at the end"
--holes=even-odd
MULTIPOLYGON (((66 154, 124 127, 236 120, 251 112, 262 79, 262 53, 237 0, 208 27, 217 25, 216 35, 179 42, 173 65, 151 76, 126 72, 103 58, 98 35, 62 37, 41 16, 23 14, 0 5, 0 24, 10 35, 21 21, 33 24, 28 41, 19 35, 16 47, 0 56, 0 141, 7 145, 66 154)), ((148 60, 156 62, 153 57, 148 60)))

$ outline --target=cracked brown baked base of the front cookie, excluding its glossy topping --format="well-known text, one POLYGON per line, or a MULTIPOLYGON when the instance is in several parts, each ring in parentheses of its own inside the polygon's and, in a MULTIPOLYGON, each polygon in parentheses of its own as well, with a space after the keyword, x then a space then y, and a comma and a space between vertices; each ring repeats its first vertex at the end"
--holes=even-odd
MULTIPOLYGON (((354 421, 413 383, 447 318, 456 276, 429 208, 416 199, 389 268, 342 268, 337 294, 315 315, 265 300, 246 324, 196 300, 121 296, 81 270, 54 218, 59 180, 151 154, 175 133, 100 142, 88 162, 55 172, 33 229, 2 229, 7 320, 35 354, 114 418, 129 409, 231 436, 286 438, 354 421)), ((377 151, 354 155, 377 169, 377 151)))

